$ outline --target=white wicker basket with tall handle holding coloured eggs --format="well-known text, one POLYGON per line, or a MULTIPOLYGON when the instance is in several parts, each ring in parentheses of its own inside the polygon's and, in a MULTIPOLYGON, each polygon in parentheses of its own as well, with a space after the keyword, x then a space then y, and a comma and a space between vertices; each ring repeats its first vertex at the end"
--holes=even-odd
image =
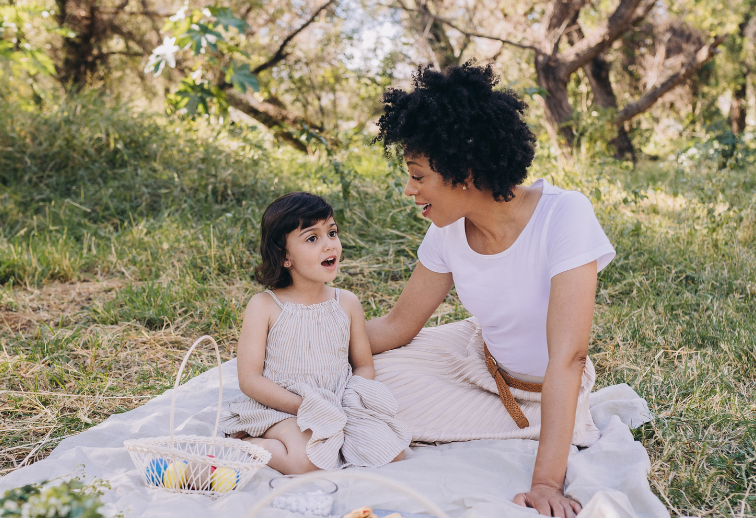
POLYGON ((150 487, 172 493, 205 495, 218 498, 243 488, 270 461, 270 453, 254 444, 238 439, 218 437, 218 424, 223 406, 223 376, 218 344, 210 336, 203 336, 191 346, 181 362, 171 400, 171 435, 144 439, 130 439, 123 445, 131 460, 150 487), (173 435, 173 413, 176 394, 184 367, 194 348, 208 339, 215 347, 218 361, 218 412, 212 437, 173 435))

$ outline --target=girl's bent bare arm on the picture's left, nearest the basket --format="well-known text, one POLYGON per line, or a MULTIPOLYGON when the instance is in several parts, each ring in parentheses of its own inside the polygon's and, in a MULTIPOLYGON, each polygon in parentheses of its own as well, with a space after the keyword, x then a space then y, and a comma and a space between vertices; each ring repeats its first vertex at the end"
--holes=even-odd
POLYGON ((267 293, 258 293, 249 301, 236 353, 239 388, 258 403, 297 415, 302 398, 262 375, 268 329, 278 310, 267 293))

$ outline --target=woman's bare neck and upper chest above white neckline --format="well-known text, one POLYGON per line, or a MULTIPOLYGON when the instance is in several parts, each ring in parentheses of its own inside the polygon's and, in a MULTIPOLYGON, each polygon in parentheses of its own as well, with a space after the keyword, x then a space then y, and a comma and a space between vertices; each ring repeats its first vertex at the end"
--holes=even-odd
POLYGON ((517 240, 533 216, 542 190, 517 185, 514 198, 498 202, 490 192, 477 191, 474 208, 465 215, 467 242, 475 252, 492 255, 503 252, 517 240))

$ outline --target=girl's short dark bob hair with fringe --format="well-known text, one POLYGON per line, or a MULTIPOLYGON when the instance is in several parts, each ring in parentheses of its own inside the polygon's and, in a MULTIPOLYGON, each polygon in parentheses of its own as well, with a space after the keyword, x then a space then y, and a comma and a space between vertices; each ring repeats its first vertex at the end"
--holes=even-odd
POLYGON ((268 289, 291 286, 291 273, 284 268, 286 236, 333 217, 333 207, 309 192, 290 192, 268 205, 260 222, 260 264, 255 280, 268 289))

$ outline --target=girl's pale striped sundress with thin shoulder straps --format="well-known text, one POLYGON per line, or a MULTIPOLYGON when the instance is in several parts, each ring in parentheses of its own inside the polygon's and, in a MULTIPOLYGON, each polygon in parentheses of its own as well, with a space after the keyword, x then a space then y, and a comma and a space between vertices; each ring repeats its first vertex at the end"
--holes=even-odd
POLYGON ((296 417, 300 430, 312 430, 307 457, 321 469, 379 467, 410 442, 409 428, 395 418, 397 402, 377 381, 352 375, 350 321, 336 297, 305 306, 281 301, 268 332, 263 376, 300 395, 296 416, 242 395, 221 420, 227 434, 260 437, 276 423, 296 417))

